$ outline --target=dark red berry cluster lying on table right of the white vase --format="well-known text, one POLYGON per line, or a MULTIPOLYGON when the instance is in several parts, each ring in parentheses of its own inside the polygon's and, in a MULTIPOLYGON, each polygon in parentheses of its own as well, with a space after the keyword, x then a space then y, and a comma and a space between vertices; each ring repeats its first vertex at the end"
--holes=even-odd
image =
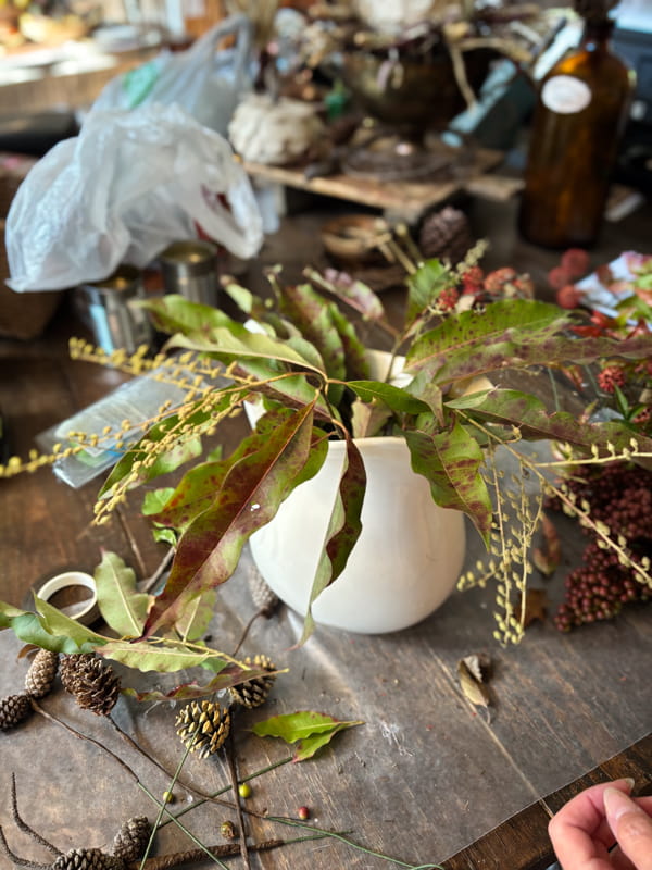
MULTIPOLYGON (((627 539, 634 559, 652 556, 652 472, 614 463, 597 469, 584 482, 569 481, 568 488, 578 502, 588 501, 590 515, 606 523, 612 538, 627 539)), ((559 508, 559 500, 553 499, 550 507, 559 508)), ((585 622, 612 619, 628 601, 651 599, 652 589, 619 563, 615 550, 602 549, 593 537, 581 566, 566 579, 565 599, 554 622, 560 631, 568 632, 585 622)))

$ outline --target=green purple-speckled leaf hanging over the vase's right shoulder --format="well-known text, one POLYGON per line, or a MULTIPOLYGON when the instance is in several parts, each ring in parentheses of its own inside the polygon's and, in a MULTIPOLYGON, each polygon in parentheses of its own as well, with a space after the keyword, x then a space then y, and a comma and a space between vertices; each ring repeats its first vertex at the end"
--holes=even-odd
POLYGON ((442 508, 462 510, 489 545, 492 505, 480 474, 485 455, 459 421, 451 430, 429 434, 406 432, 412 469, 430 484, 434 500, 442 508))

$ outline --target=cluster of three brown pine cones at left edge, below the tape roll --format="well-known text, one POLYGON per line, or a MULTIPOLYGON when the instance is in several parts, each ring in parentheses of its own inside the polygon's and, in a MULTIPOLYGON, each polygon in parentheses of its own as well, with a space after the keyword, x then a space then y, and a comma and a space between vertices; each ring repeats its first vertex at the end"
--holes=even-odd
POLYGON ((52 691, 57 671, 66 692, 85 710, 108 716, 120 695, 120 679, 113 669, 91 652, 63 656, 39 649, 25 676, 25 691, 0 699, 0 730, 9 731, 32 713, 32 699, 43 698, 52 691))

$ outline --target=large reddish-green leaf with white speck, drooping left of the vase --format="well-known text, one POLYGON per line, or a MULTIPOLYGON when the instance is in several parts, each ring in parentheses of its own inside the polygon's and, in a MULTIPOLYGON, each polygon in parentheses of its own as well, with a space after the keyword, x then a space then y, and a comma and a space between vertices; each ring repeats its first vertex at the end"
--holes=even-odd
POLYGON ((211 507, 180 537, 165 588, 150 611, 148 636, 173 625, 193 598, 228 580, 249 536, 269 522, 297 485, 311 451, 313 406, 274 414, 267 417, 277 424, 264 437, 258 431, 250 436, 250 451, 231 465, 211 507))

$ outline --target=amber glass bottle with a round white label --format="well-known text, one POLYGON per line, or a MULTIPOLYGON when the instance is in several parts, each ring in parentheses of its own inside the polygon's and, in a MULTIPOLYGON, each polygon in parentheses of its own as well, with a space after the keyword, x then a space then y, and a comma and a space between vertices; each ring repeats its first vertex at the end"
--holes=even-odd
POLYGON ((587 20, 581 44, 547 74, 532 127, 522 235, 548 248, 595 241, 634 74, 612 53, 609 18, 587 20))

